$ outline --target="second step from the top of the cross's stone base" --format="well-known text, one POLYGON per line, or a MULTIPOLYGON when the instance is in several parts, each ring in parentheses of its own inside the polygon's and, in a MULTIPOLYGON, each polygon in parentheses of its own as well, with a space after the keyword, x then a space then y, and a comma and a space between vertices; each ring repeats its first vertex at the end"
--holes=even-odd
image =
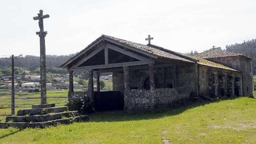
POLYGON ((17 115, 45 115, 48 113, 61 113, 67 111, 67 106, 51 107, 45 109, 21 109, 18 110, 17 115))

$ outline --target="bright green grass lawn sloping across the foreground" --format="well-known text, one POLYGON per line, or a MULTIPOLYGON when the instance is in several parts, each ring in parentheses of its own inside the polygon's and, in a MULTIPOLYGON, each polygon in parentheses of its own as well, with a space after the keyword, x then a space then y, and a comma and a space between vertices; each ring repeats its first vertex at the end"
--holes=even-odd
POLYGON ((256 143, 256 99, 239 97, 209 104, 128 115, 98 112, 90 122, 45 129, 0 129, 0 143, 256 143))

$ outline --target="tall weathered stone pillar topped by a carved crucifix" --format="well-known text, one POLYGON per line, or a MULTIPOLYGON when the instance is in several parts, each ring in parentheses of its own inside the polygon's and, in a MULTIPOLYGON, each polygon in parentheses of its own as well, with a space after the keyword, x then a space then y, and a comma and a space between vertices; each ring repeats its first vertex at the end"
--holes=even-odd
POLYGON ((41 104, 46 104, 46 64, 45 64, 45 36, 47 31, 44 31, 43 19, 49 18, 49 15, 43 15, 43 10, 39 10, 38 16, 33 17, 34 20, 39 20, 40 31, 36 32, 40 38, 40 77, 41 77, 41 104))

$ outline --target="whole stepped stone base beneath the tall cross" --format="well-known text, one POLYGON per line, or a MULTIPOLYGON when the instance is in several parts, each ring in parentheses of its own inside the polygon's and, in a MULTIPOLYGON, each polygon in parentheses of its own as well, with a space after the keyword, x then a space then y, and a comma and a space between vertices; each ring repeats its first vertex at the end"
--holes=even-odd
POLYGON ((35 104, 32 105, 32 109, 19 110, 18 116, 6 116, 6 122, 0 122, 0 128, 44 128, 89 120, 88 115, 79 115, 78 111, 67 110, 67 106, 55 107, 55 104, 35 104))

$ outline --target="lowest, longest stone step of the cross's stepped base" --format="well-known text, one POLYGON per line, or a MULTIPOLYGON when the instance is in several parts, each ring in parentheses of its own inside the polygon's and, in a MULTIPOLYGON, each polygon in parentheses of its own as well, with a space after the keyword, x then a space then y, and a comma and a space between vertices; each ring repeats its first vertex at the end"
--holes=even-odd
POLYGON ((47 126, 57 126, 58 124, 71 124, 73 122, 86 122, 89 121, 88 115, 76 116, 71 118, 63 118, 58 120, 50 120, 47 122, 0 122, 0 128, 8 127, 18 127, 20 129, 24 128, 45 128, 47 126))

